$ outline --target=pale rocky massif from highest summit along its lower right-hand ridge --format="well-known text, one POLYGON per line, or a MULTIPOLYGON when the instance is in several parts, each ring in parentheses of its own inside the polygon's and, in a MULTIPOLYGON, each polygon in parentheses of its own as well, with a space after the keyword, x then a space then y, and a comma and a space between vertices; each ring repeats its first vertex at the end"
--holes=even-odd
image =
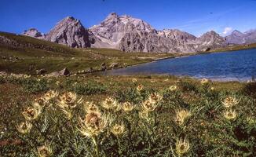
POLYGON ((191 53, 205 47, 224 46, 225 38, 214 31, 200 38, 179 30, 156 31, 143 20, 111 13, 99 25, 90 28, 93 47, 126 52, 191 53))

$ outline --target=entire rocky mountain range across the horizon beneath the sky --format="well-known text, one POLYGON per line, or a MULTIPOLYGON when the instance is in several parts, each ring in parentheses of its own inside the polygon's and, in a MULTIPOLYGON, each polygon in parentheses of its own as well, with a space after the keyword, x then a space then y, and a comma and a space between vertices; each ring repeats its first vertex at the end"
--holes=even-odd
MULTIPOLYGON (((110 13, 101 24, 89 29, 83 27, 80 20, 68 16, 60 20, 46 35, 35 28, 25 31, 23 35, 75 48, 111 48, 125 52, 155 53, 202 52, 240 41, 236 37, 238 35, 224 38, 214 31, 209 31, 199 38, 177 29, 157 31, 144 20, 126 15, 119 16, 117 13, 110 13)), ((247 38, 252 41, 254 33, 252 32, 251 35, 248 33, 247 38)), ((243 44, 243 42, 236 43, 243 44)))

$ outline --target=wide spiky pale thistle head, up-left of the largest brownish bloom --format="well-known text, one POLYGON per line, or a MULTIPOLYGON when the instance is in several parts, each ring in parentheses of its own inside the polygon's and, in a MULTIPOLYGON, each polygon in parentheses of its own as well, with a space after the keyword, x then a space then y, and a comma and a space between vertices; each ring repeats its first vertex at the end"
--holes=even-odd
POLYGON ((77 104, 82 104, 82 97, 77 100, 77 95, 75 93, 67 92, 60 96, 58 105, 63 108, 75 108, 77 104))

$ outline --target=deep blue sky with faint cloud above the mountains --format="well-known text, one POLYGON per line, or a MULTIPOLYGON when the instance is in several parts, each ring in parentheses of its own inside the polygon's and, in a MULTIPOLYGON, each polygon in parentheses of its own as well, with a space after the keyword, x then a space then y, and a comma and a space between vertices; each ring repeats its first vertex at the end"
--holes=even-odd
POLYGON ((156 30, 176 28, 196 36, 256 28, 256 0, 0 0, 0 31, 20 34, 35 27, 47 33, 66 16, 88 28, 112 12, 140 18, 156 30))

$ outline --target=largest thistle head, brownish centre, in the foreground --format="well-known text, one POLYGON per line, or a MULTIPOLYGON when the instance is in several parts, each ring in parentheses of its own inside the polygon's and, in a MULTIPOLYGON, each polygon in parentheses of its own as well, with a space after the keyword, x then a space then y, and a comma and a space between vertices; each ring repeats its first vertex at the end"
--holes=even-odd
POLYGON ((94 111, 80 119, 80 133, 86 137, 97 136, 108 126, 108 117, 102 116, 100 112, 94 111))

